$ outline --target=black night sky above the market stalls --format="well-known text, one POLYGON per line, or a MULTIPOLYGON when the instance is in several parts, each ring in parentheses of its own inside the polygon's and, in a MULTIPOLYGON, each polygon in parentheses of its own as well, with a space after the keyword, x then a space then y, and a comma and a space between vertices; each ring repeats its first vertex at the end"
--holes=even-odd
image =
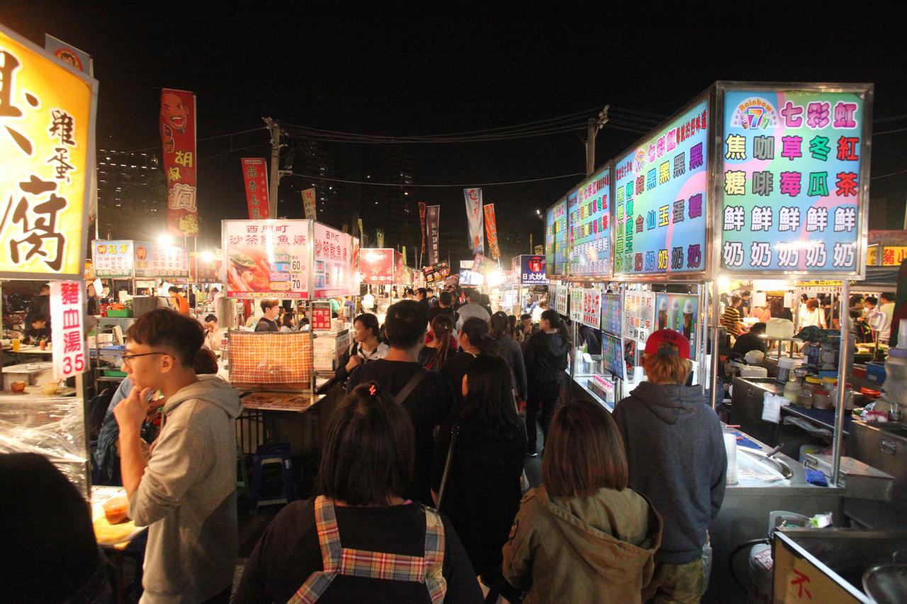
MULTIPOLYGON (((400 135, 532 122, 606 103, 667 115, 716 80, 873 82, 875 132, 907 127, 903 11, 875 3, 802 11, 790 8, 795 3, 734 3, 720 12, 681 3, 669 14, 649 8, 637 15, 615 14, 612 3, 459 15, 424 4, 375 3, 383 10, 344 14, 275 3, 157 4, 4 3, 0 23, 38 44, 47 32, 93 54, 99 144, 118 150, 160 144, 164 86, 197 93, 199 138, 257 128, 264 115, 400 135), (878 122, 893 116, 902 119, 878 122)), ((580 137, 585 132, 420 145, 415 181, 468 186, 580 172, 580 137)), ((638 138, 606 127, 597 163, 638 138)), ((229 139, 200 142, 204 239, 219 237, 216 220, 245 218, 237 158, 263 156, 265 141, 263 130, 240 135, 234 147, 261 146, 233 153, 225 152, 229 139)), ((872 160, 873 177, 907 170, 907 132, 874 138, 872 160)), ((538 238, 534 210, 578 180, 486 187, 485 200, 496 204, 502 237, 525 240, 534 229, 538 238)), ((872 228, 901 227, 905 190, 907 172, 873 180, 872 228)), ((442 219, 462 223, 454 232, 466 238, 459 188, 418 190, 416 199, 440 203, 442 219)))

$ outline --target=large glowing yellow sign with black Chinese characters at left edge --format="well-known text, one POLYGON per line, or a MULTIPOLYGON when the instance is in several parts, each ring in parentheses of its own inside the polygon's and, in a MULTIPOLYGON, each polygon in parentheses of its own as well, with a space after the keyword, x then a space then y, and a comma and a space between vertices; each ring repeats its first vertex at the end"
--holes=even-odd
POLYGON ((83 278, 97 85, 0 27, 0 278, 83 278))

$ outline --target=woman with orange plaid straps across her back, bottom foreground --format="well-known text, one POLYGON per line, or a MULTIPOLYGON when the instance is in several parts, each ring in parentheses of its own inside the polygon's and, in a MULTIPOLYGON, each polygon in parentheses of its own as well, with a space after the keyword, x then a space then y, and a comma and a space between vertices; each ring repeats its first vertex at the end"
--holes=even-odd
POLYGON ((405 499, 413 442, 393 396, 356 386, 327 425, 317 496, 271 521, 233 601, 481 602, 451 523, 405 499))

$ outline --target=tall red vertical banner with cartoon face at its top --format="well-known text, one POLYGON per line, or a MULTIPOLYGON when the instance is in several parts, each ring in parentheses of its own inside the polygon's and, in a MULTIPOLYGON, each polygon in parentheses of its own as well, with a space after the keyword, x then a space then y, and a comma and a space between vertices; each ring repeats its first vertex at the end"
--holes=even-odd
POLYGON ((167 177, 167 228, 180 237, 199 234, 196 199, 195 94, 161 90, 161 145, 167 177))

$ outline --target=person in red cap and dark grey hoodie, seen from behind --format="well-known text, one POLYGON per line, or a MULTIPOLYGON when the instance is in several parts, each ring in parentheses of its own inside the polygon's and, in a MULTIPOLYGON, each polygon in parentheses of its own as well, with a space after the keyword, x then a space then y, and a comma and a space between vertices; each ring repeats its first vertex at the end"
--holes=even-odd
POLYGON ((655 574, 642 600, 698 602, 706 590, 702 548, 725 497, 727 455, 721 424, 700 386, 688 386, 689 341, 659 329, 646 340, 646 381, 614 408, 629 468, 628 485, 664 519, 655 574))

